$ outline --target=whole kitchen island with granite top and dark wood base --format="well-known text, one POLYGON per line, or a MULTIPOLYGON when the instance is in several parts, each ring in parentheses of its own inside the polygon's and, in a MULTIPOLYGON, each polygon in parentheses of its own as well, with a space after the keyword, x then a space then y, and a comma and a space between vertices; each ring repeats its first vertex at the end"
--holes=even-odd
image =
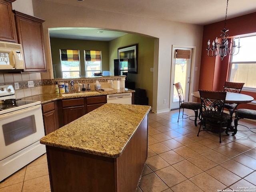
POLYGON ((107 103, 43 137, 52 192, 135 192, 150 106, 107 103))

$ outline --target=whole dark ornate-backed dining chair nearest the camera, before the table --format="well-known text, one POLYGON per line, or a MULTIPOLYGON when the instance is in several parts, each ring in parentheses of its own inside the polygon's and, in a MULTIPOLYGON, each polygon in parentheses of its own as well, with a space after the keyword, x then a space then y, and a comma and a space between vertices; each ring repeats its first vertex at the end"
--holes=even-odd
MULTIPOLYGON (((221 143, 222 124, 230 126, 230 114, 224 111, 224 104, 226 100, 226 91, 207 91, 199 90, 201 100, 201 118, 203 121, 203 129, 201 130, 202 124, 200 124, 198 134, 200 131, 212 131, 218 132, 221 143), (206 125, 208 125, 206 127, 206 125)), ((224 132, 224 131, 223 131, 224 132)))

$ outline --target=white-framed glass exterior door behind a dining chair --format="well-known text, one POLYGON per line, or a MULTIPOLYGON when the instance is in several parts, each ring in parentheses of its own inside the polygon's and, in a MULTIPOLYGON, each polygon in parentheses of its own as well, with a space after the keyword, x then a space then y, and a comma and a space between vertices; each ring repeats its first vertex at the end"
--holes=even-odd
MULTIPOLYGON (((173 48, 173 52, 176 49, 190 50, 190 48, 173 48)), ((192 55, 192 54, 191 54, 192 55)), ((172 82, 171 82, 171 97, 170 97, 170 109, 179 108, 179 97, 176 88, 173 84, 180 82, 184 94, 184 100, 188 101, 189 87, 190 87, 190 71, 191 71, 191 58, 176 58, 175 54, 172 57, 172 82)))

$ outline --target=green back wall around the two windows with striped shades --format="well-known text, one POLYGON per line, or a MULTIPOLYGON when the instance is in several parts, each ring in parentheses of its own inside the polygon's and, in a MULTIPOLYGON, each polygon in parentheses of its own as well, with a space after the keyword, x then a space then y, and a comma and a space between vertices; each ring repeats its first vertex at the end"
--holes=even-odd
POLYGON ((85 76, 84 70, 84 50, 101 50, 102 71, 109 70, 109 50, 106 41, 90 41, 76 39, 50 38, 52 64, 56 64, 56 77, 62 77, 60 65, 60 49, 80 50, 81 76, 85 76))

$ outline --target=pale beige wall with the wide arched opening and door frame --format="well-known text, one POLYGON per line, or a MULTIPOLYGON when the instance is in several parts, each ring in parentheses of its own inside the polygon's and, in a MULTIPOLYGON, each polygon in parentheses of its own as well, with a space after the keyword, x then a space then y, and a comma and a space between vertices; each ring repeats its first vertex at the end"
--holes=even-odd
MULTIPOLYGON (((94 10, 80 6, 66 6, 48 0, 32 0, 34 16, 46 20, 43 23, 44 42, 46 50, 46 62, 48 74, 42 73, 42 78, 52 78, 52 61, 50 55, 50 40, 48 28, 54 27, 96 27, 113 30, 121 30, 138 34, 146 34, 159 38, 158 58, 154 58, 154 85, 153 85, 153 106, 154 112, 165 112, 169 110, 169 102, 163 104, 163 100, 170 100, 170 74, 172 45, 196 46, 195 86, 198 88, 200 74, 200 59, 202 48, 203 27, 132 16, 108 12, 104 10, 94 10)), ((156 57, 156 52, 154 57, 156 57)), ((194 70, 194 69, 192 69, 194 70)))

